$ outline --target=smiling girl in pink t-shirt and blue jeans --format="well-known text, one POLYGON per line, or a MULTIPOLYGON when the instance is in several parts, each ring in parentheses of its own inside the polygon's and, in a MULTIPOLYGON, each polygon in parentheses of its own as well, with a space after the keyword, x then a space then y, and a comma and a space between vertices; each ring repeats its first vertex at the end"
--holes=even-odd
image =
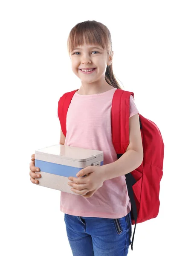
MULTIPOLYGON (((102 23, 84 21, 72 28, 67 43, 81 87, 69 105, 67 136, 61 130, 60 144, 104 152, 103 166, 88 166, 78 177, 69 177, 68 184, 78 195, 61 192, 69 244, 73 256, 126 256, 131 244, 131 204, 124 175, 143 160, 139 111, 131 96, 130 143, 117 160, 110 116, 113 94, 121 88, 112 69, 110 31, 102 23)), ((34 156, 30 179, 38 183, 34 156)))

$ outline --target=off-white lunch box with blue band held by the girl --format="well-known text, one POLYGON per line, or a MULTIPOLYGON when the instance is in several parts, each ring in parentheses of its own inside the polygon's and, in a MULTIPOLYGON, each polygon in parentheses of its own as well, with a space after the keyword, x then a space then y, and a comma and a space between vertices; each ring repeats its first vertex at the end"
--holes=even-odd
MULTIPOLYGON (((39 186, 57 189, 77 195, 68 185, 68 177, 76 174, 87 166, 103 165, 103 151, 76 148, 66 145, 52 145, 35 150, 35 166, 40 169, 39 186)), ((72 182, 72 181, 71 181, 72 182)))

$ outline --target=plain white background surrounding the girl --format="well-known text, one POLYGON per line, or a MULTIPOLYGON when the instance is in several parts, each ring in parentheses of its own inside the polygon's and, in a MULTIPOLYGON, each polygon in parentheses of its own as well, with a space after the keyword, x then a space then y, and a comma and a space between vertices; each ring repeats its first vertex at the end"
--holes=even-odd
MULTIPOLYGON (((157 218, 129 255, 191 255, 191 8, 185 0, 0 2, 0 254, 72 256, 60 192, 32 184, 36 149, 59 143, 59 98, 80 86, 67 53, 77 23, 104 23, 113 71, 165 143, 157 218)), ((134 226, 133 226, 134 227, 134 226)))

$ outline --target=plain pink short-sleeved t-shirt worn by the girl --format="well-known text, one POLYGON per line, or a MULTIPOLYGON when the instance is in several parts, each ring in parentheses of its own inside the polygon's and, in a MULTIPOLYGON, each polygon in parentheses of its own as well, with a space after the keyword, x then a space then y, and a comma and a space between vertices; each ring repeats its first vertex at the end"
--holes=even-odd
MULTIPOLYGON (((74 94, 67 113, 65 145, 101 150, 104 164, 117 160, 111 136, 111 105, 116 88, 93 95, 74 94)), ((130 96, 130 116, 139 114, 130 96)), ((105 180, 92 197, 61 192, 60 210, 81 217, 122 218, 131 205, 125 176, 105 180)))

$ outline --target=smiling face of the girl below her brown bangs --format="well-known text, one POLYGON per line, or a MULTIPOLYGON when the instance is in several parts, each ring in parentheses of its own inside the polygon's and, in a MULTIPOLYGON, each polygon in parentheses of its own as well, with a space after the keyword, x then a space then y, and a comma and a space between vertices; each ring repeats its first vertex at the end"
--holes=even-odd
POLYGON ((105 81, 105 71, 107 65, 112 62, 112 57, 108 56, 107 50, 99 45, 78 46, 70 52, 72 71, 81 79, 82 83, 89 84, 96 81, 105 81), (92 69, 92 72, 85 73, 81 69, 92 69))

